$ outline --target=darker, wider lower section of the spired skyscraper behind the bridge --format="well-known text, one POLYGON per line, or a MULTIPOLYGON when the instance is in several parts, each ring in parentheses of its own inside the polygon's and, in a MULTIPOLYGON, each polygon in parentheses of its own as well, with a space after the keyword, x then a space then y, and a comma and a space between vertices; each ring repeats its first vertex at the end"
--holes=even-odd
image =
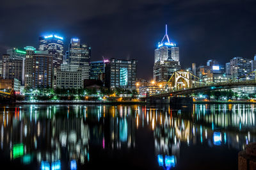
POLYGON ((166 60, 162 64, 157 61, 154 64, 154 81, 168 81, 172 77, 173 72, 180 70, 179 61, 166 60))

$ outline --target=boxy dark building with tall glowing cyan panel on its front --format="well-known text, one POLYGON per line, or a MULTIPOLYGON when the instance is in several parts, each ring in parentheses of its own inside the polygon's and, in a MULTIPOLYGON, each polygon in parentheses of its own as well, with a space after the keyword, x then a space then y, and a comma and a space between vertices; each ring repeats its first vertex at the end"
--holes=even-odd
POLYGON ((109 59, 106 64, 107 88, 136 89, 137 61, 134 59, 109 59))

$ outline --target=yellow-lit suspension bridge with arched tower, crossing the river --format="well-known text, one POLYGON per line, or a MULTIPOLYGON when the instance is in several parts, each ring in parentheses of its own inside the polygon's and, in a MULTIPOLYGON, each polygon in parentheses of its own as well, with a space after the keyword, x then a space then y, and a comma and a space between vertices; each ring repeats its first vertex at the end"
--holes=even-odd
POLYGON ((191 93, 198 93, 216 89, 230 89, 243 86, 256 86, 256 79, 249 79, 255 77, 255 73, 251 72, 237 79, 230 79, 223 82, 205 82, 203 79, 196 77, 190 72, 179 70, 172 74, 169 81, 166 82, 163 91, 150 96, 150 98, 161 97, 176 97, 177 95, 189 95, 191 93))

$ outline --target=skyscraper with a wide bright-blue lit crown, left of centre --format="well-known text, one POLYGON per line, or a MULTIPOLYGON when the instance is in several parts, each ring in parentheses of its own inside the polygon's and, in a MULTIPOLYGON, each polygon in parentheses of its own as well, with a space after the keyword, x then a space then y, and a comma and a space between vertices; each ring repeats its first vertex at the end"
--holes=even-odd
POLYGON ((39 37, 39 50, 48 50, 53 55, 53 66, 59 68, 63 59, 63 37, 47 35, 39 37))

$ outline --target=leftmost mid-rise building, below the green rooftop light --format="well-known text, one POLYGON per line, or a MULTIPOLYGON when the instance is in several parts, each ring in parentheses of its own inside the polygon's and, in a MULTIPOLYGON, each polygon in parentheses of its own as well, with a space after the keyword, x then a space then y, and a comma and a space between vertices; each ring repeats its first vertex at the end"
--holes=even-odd
POLYGON ((10 54, 4 54, 2 59, 1 72, 3 79, 18 79, 24 84, 25 59, 11 58, 10 54))

